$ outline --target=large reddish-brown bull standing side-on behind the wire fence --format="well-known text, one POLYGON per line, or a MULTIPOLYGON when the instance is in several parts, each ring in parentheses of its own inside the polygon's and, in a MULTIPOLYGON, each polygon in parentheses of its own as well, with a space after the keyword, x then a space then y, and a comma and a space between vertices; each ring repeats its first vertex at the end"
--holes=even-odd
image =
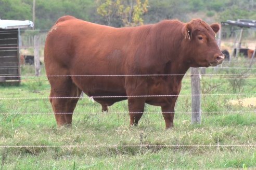
POLYGON ((215 41, 219 29, 219 24, 209 26, 200 19, 114 28, 61 17, 49 31, 44 51, 58 126, 71 124, 83 91, 103 106, 128 99, 131 125, 138 124, 145 103, 161 106, 166 128, 172 127, 189 67, 216 66, 224 60, 215 41), (164 76, 169 74, 178 76, 164 76))

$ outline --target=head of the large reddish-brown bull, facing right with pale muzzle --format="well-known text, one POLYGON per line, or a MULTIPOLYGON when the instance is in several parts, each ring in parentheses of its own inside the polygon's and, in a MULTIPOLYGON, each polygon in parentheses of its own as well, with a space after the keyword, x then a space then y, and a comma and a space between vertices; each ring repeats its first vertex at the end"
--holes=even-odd
POLYGON ((220 25, 195 19, 186 23, 183 29, 185 46, 191 67, 208 67, 221 64, 224 60, 220 48, 217 46, 215 36, 220 30, 220 25))

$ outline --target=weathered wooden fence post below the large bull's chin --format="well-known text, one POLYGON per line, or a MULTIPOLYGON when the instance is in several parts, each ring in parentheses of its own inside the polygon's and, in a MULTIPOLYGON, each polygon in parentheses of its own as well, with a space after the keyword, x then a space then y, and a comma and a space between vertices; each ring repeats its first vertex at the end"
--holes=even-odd
POLYGON ((192 112, 191 123, 201 123, 200 74, 199 68, 191 67, 192 112))

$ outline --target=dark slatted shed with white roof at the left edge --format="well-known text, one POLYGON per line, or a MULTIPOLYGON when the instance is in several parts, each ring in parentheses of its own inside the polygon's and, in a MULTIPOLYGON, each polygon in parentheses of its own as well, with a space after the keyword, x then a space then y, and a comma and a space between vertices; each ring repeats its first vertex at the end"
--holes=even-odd
POLYGON ((32 21, 0 19, 0 84, 20 83, 20 29, 33 27, 32 21))

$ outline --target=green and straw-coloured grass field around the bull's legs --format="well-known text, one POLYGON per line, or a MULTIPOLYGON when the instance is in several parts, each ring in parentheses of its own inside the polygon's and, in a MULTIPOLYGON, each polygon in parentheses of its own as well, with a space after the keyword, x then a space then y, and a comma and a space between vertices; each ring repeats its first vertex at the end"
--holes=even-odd
MULTIPOLYGON (((246 67, 245 61, 232 66, 246 67)), ((246 73, 255 74, 255 68, 254 63, 246 73)), ((22 68, 22 75, 33 72, 22 68)), ((256 168, 256 107, 229 103, 255 97, 255 75, 227 75, 244 72, 207 69, 223 75, 201 78, 201 124, 190 123, 190 77, 185 76, 170 130, 164 130, 160 107, 146 105, 139 125, 130 127, 127 101, 102 113, 86 97, 76 106, 72 127, 58 129, 46 77, 22 77, 18 87, 0 87, 0 169, 256 168)))

